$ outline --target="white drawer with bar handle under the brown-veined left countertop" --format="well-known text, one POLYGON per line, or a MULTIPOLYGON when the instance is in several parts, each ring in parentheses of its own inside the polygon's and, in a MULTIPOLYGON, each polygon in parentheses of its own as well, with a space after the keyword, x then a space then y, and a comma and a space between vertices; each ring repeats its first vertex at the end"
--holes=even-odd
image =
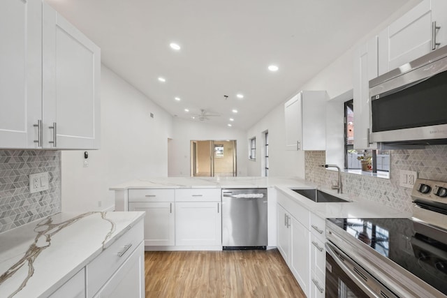
POLYGON ((115 243, 87 265, 87 297, 93 297, 124 263, 143 239, 143 221, 119 237, 115 243))

